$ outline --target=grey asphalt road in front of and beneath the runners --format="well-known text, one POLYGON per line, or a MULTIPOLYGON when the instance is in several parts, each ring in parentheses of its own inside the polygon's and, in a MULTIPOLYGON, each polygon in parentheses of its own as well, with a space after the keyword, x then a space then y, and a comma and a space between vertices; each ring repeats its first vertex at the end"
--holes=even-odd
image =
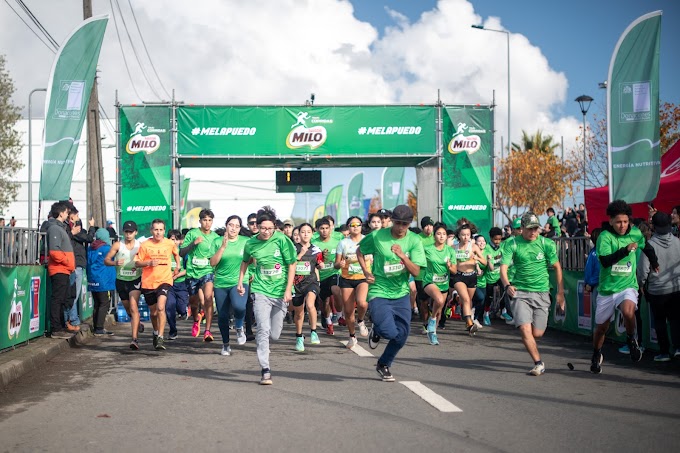
POLYGON ((233 338, 233 355, 219 355, 216 325, 206 344, 180 321, 164 352, 152 349, 150 324, 137 352, 119 325, 0 391, 0 451, 678 451, 680 360, 646 353, 633 365, 607 344, 596 376, 587 339, 549 330, 539 344, 547 371, 532 377, 517 332, 494 322, 475 338, 449 322, 440 346, 414 323, 395 383, 340 343, 345 328, 297 353, 285 325, 272 386, 259 385, 254 343, 233 338), (462 412, 441 412, 405 382, 462 412))

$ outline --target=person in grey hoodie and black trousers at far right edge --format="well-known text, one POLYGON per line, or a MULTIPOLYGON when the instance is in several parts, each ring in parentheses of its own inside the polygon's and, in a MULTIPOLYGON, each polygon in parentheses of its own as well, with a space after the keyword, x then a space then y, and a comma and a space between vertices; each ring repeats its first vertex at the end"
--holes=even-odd
POLYGON ((670 362, 670 344, 666 321, 670 325, 671 342, 676 358, 680 358, 680 239, 671 234, 671 218, 664 212, 652 216, 654 235, 649 243, 659 260, 658 269, 652 269, 647 256, 640 257, 638 282, 654 316, 660 354, 656 362, 670 362))

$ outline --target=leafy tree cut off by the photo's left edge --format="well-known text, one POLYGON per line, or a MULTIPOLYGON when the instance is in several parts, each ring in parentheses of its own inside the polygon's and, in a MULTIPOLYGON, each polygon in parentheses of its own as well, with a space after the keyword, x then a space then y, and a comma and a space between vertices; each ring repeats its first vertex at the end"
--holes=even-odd
POLYGON ((5 56, 0 55, 0 212, 17 198, 19 183, 14 182, 24 164, 20 160, 21 138, 14 125, 21 109, 12 103, 14 82, 5 69, 5 56))

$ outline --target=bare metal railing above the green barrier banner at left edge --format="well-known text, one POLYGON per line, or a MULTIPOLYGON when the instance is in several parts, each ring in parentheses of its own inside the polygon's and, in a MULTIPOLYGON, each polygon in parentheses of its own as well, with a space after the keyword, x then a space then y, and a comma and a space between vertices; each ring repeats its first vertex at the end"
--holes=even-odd
POLYGON ((0 228, 0 265, 41 263, 44 244, 45 233, 35 228, 0 228))

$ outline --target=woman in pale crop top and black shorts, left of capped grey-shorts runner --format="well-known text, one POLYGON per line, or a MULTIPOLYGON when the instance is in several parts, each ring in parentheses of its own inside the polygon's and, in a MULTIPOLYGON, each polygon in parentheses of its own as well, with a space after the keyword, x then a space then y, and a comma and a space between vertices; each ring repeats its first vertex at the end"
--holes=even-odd
POLYGON ((458 245, 454 249, 457 271, 453 274, 453 287, 460 297, 465 328, 470 336, 473 336, 478 330, 472 321, 472 298, 477 289, 477 263, 486 265, 486 258, 477 244, 472 241, 472 230, 469 224, 461 225, 457 236, 458 245))

